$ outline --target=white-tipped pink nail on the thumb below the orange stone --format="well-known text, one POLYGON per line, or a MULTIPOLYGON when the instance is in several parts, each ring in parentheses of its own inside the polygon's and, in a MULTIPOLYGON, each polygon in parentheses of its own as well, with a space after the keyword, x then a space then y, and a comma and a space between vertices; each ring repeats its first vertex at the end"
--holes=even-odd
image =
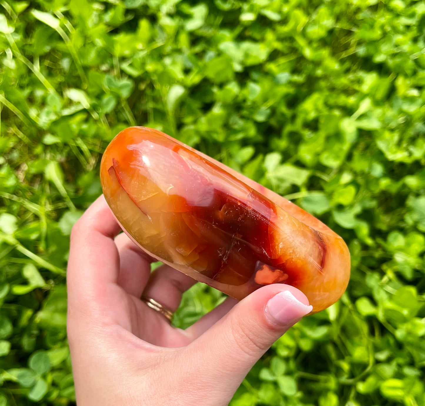
POLYGON ((295 324, 300 318, 309 314, 313 306, 301 303, 289 290, 279 292, 266 304, 266 315, 278 324, 295 324))

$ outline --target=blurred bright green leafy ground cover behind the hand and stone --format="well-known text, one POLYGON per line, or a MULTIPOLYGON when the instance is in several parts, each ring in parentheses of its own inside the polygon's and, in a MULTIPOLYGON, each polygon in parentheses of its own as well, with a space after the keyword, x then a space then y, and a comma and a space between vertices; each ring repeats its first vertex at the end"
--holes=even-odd
MULTIPOLYGON (((232 406, 425 406, 425 2, 0 0, 0 406, 74 402, 65 267, 99 158, 158 128, 346 240, 343 298, 232 406)), ((221 300, 195 285, 175 323, 221 300)))

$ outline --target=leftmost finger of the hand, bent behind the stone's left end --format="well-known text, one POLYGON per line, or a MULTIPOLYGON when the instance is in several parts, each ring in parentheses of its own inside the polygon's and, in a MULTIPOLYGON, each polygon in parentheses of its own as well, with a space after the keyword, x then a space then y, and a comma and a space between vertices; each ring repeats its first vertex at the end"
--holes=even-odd
POLYGON ((119 253, 114 237, 121 227, 100 196, 85 211, 71 232, 67 286, 68 306, 96 305, 117 284, 119 253))

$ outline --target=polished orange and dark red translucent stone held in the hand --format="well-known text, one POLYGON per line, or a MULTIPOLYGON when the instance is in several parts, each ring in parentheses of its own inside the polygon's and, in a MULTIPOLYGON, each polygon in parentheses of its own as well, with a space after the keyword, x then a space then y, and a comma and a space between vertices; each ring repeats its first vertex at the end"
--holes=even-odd
POLYGON ((123 230, 151 256, 237 299, 284 283, 318 312, 350 275, 343 239, 278 194, 159 131, 131 127, 101 182, 123 230))

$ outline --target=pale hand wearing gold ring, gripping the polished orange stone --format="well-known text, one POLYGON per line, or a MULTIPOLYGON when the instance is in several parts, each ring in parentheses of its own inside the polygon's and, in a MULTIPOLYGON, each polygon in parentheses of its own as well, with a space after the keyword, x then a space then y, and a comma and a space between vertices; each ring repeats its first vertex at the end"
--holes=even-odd
POLYGON ((255 362, 311 311, 302 292, 272 284, 177 329, 140 297, 174 312, 195 281, 168 266, 150 273, 153 259, 120 231, 101 196, 71 233, 68 339, 78 406, 227 405, 255 362))

